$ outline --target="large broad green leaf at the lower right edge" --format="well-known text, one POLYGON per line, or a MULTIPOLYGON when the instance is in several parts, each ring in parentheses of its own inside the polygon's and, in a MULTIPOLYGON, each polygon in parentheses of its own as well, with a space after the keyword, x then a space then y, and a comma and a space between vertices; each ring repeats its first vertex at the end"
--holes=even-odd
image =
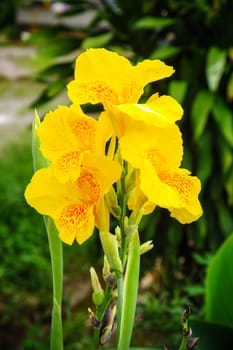
POLYGON ((206 309, 207 321, 233 327, 233 234, 222 244, 207 270, 206 309))

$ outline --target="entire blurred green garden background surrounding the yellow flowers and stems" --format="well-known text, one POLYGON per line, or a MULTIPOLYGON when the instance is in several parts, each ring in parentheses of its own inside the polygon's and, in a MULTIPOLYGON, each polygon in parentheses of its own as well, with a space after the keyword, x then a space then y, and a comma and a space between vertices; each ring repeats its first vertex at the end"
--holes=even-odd
MULTIPOLYGON (((49 348, 47 237, 42 218, 23 197, 32 175, 29 124, 35 107, 42 116, 68 103, 74 59, 89 47, 114 50, 132 63, 158 58, 175 68, 146 92, 170 94, 182 104, 183 166, 202 182, 198 222, 181 225, 160 209, 143 220, 142 241, 153 239, 155 248, 142 258, 134 345, 178 348, 187 304, 196 319, 206 319, 206 270, 233 232, 232 23, 230 0, 1 1, 0 59, 9 48, 27 55, 25 63, 16 54, 15 72, 10 67, 4 74, 3 65, 0 72, 1 349, 49 348), (17 74, 25 65, 29 71, 17 74)), ((101 263, 97 234, 81 247, 64 246, 67 350, 89 347, 88 269, 101 263)))

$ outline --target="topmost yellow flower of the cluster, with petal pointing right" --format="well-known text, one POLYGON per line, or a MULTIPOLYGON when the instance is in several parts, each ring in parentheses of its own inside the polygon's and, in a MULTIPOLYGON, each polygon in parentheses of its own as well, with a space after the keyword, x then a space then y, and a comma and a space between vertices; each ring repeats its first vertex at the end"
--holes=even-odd
POLYGON ((73 103, 109 105, 137 103, 144 87, 169 77, 173 68, 159 60, 132 66, 128 59, 105 49, 89 49, 76 60, 74 80, 68 84, 73 103))

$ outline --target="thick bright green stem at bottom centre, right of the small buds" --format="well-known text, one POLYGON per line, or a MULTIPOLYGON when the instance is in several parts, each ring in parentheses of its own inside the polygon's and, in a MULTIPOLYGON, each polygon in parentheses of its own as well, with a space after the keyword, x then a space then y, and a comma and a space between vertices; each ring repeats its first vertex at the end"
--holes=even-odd
POLYGON ((117 350, 128 350, 130 346, 134 318, 137 304, 139 268, 140 268, 140 242, 138 231, 129 236, 129 252, 123 286, 122 315, 120 320, 119 340, 117 350))

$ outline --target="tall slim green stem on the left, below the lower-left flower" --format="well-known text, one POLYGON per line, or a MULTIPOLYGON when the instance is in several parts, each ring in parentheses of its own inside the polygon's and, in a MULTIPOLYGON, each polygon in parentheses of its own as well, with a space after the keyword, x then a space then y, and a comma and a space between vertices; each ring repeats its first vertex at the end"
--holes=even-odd
POLYGON ((63 254, 62 243, 51 218, 45 218, 48 233, 49 250, 53 280, 53 309, 51 320, 50 350, 63 350, 62 332, 62 286, 63 286, 63 254))

